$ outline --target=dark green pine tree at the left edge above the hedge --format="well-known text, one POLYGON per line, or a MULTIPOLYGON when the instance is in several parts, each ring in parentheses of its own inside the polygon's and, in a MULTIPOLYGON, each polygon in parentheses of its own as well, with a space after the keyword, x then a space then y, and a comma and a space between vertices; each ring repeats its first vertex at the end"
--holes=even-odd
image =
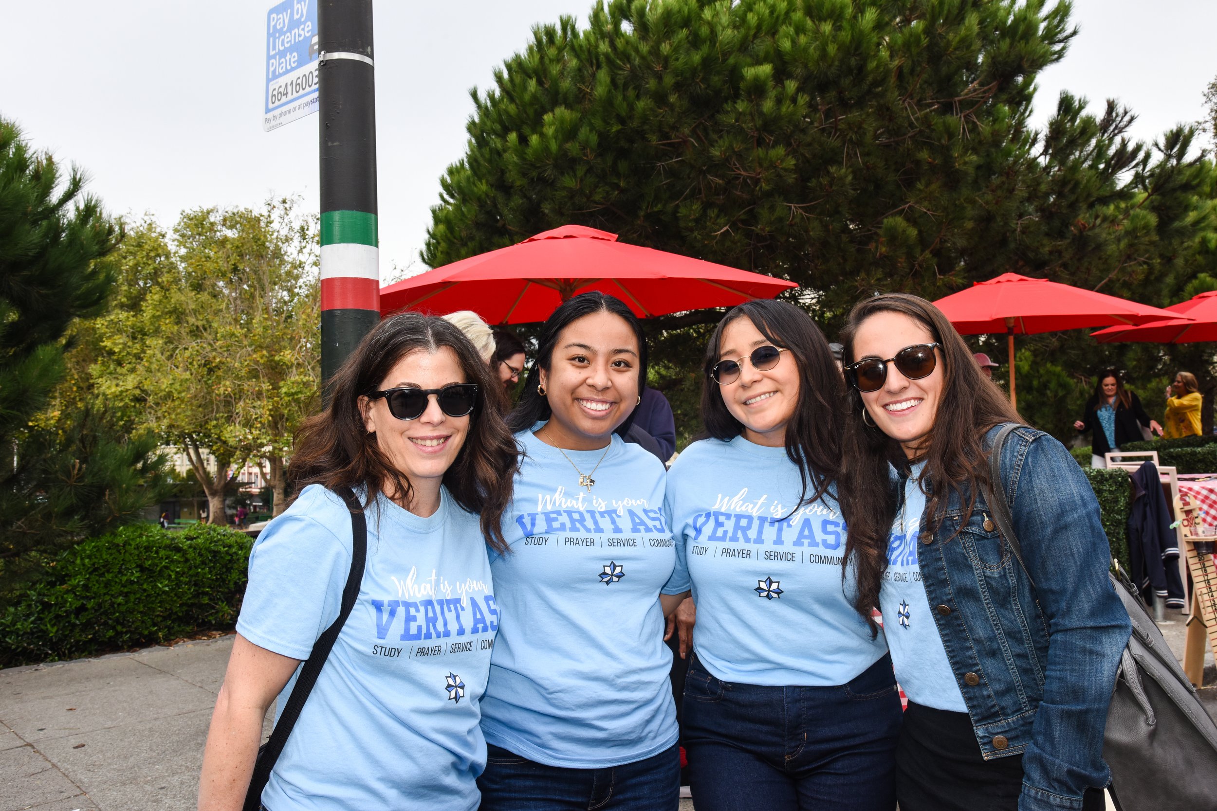
POLYGON ((155 444, 105 410, 46 413, 74 325, 106 306, 103 261, 119 226, 84 176, 65 176, 0 119, 0 562, 6 580, 34 552, 130 520, 157 495, 155 444))

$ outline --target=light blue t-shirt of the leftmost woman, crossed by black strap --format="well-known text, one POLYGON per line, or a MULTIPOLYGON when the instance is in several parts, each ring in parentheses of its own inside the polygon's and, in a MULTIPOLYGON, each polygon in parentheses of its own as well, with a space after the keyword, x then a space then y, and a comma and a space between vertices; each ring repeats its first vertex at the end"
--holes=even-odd
MULTIPOLYGON (((477 517, 441 490, 428 518, 380 496, 366 519, 359 598, 263 802, 274 811, 476 809, 486 767, 478 703, 499 620, 477 517)), ((305 488, 253 546, 237 632, 307 659, 338 616, 350 554, 346 505, 305 488)), ((292 676, 279 711, 295 685, 292 676)))

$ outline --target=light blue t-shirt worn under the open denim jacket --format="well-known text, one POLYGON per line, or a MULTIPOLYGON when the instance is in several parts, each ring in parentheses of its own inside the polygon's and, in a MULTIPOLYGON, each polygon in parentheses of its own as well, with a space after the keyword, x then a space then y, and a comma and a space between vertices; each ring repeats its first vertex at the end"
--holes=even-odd
POLYGON ((892 652, 896 681, 910 702, 936 710, 966 713, 964 694, 947 660, 947 649, 935 624, 930 598, 916 562, 925 492, 920 475, 925 463, 913 467, 904 483, 904 500, 896 513, 887 542, 887 573, 879 590, 884 633, 892 652))

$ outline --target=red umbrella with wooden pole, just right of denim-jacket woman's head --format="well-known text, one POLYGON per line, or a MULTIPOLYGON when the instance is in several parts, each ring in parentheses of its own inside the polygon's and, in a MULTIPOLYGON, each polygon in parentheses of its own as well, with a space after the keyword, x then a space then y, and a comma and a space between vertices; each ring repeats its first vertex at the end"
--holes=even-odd
POLYGON ((1095 293, 1081 287, 1002 274, 987 282, 941 298, 935 304, 965 336, 1006 333, 1010 356, 1010 402, 1014 393, 1014 336, 1112 325, 1140 325, 1178 319, 1178 312, 1095 293))

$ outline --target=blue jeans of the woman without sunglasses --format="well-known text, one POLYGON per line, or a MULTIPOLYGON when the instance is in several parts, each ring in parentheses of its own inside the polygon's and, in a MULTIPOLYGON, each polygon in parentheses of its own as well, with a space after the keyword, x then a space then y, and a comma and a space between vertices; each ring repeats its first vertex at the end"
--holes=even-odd
POLYGON ((605 768, 562 768, 488 745, 479 811, 677 811, 680 748, 605 768))

